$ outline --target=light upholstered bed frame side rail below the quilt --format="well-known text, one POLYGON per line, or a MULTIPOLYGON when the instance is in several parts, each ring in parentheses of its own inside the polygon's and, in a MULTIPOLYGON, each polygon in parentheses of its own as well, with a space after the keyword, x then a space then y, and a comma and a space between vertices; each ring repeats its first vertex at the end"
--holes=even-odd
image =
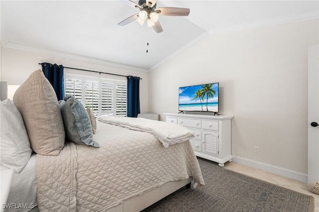
MULTIPOLYGON (((126 200, 124 203, 110 208, 106 212, 140 212, 143 209, 152 206, 154 203, 182 188, 183 186, 186 186, 186 188, 190 188, 190 183, 192 181, 193 178, 189 177, 188 179, 184 180, 167 182, 158 188, 126 200)), ((30 212, 39 212, 38 207, 35 207, 30 212)))

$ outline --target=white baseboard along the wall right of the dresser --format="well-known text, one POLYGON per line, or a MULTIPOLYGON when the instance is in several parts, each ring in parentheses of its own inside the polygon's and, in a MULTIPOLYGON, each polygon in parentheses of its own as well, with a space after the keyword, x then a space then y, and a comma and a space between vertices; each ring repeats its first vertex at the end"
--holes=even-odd
POLYGON ((273 166, 270 164, 266 164, 266 163, 261 163, 258 161, 254 161, 254 160, 250 160, 247 158, 242 158, 239 156, 234 156, 233 155, 233 162, 235 163, 239 163, 245 166, 249 166, 255 169, 259 169, 259 170, 263 170, 266 172, 270 172, 276 175, 280 175, 283 177, 287 177, 290 179, 294 179, 294 180, 298 180, 304 183, 308 182, 308 174, 302 173, 302 172, 296 172, 293 170, 289 170, 289 169, 285 169, 282 167, 278 167, 278 166, 273 166))

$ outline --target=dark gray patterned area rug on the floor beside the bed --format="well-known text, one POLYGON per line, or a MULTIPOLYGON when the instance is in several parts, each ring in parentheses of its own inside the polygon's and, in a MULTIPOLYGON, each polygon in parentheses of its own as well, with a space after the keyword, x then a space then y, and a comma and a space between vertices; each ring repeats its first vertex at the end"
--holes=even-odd
POLYGON ((314 212, 314 198, 198 158, 202 190, 185 187, 143 212, 314 212))

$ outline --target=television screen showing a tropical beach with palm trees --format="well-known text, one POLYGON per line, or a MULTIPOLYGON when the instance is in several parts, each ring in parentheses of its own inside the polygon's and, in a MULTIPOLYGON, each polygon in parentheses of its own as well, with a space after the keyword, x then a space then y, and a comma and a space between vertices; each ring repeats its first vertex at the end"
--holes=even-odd
POLYGON ((218 83, 179 88, 178 110, 218 112, 218 83))

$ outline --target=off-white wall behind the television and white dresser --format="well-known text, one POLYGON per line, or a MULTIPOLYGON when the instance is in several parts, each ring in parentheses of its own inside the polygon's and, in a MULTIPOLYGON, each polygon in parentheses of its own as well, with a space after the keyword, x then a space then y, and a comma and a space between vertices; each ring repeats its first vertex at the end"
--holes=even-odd
POLYGON ((308 173, 308 46, 318 19, 211 35, 150 73, 150 110, 177 112, 178 87, 219 82, 232 155, 308 173), (254 153, 259 147, 259 154, 254 153))

